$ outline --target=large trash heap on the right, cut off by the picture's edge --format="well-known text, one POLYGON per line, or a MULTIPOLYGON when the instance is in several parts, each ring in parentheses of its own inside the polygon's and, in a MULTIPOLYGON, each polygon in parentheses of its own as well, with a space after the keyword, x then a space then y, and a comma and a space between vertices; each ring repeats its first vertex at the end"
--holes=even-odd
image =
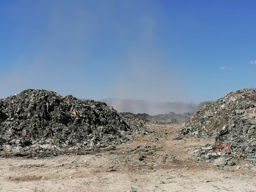
POLYGON ((183 125, 183 134, 215 137, 213 145, 195 150, 200 159, 220 156, 256 160, 256 92, 241 89, 207 103, 183 125))

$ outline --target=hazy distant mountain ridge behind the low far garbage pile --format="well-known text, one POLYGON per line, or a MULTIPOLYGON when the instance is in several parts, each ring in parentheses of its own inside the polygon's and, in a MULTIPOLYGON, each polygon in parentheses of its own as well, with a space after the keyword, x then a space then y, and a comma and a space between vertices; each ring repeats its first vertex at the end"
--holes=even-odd
POLYGON ((112 106, 118 112, 147 113, 153 116, 170 112, 183 115, 187 115, 187 113, 194 114, 199 109, 195 103, 184 102, 151 102, 148 100, 116 98, 106 98, 100 101, 112 106))

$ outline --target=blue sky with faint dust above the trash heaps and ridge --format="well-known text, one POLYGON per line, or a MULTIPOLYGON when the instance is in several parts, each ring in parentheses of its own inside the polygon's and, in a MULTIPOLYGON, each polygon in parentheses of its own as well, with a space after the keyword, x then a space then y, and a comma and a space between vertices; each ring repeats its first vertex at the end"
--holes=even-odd
POLYGON ((0 1, 0 98, 217 100, 256 87, 256 1, 0 1))

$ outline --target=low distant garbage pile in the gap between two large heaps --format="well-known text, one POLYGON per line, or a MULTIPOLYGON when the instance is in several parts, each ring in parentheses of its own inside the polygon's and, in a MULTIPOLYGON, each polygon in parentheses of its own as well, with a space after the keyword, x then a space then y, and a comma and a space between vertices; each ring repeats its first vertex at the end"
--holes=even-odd
POLYGON ((181 124, 186 121, 187 116, 178 115, 174 112, 170 112, 168 114, 160 114, 156 116, 150 116, 147 113, 119 113, 121 117, 140 120, 144 124, 181 124))

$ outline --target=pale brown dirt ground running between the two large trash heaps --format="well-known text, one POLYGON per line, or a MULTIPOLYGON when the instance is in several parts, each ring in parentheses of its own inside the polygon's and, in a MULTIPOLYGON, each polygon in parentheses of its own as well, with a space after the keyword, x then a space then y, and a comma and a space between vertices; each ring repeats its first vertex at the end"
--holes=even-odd
POLYGON ((150 127, 156 133, 131 135, 131 143, 116 149, 52 158, 0 158, 0 192, 256 191, 255 173, 246 170, 245 162, 218 169, 188 153, 213 140, 172 140, 180 126, 150 127))

